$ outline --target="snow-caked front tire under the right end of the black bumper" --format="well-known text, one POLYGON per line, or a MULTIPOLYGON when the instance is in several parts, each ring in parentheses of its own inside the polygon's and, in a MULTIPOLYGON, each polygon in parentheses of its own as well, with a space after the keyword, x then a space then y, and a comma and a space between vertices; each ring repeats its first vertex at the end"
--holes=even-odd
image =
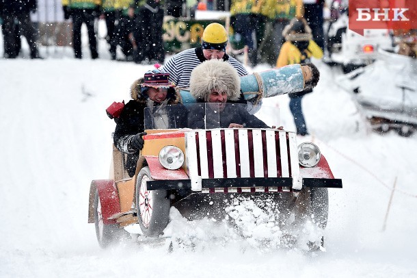
POLYGON ((325 229, 329 216, 329 192, 327 188, 310 188, 310 207, 314 223, 325 229))

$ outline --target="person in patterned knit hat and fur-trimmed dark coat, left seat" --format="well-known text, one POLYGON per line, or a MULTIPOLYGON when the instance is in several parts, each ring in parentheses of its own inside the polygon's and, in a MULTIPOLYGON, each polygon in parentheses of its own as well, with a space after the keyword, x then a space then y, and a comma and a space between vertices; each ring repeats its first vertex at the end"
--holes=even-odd
POLYGON ((127 153, 126 170, 135 175, 139 151, 144 147, 144 129, 176 129, 187 125, 187 112, 178 104, 180 95, 168 81, 170 74, 158 69, 145 73, 131 86, 132 100, 126 103, 114 131, 114 145, 127 153), (148 108, 148 109, 145 109, 148 108))

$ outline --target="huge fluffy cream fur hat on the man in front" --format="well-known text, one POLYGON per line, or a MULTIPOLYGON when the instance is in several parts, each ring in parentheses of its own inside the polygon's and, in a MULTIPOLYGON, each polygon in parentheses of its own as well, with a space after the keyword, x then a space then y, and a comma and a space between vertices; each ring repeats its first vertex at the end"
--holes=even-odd
POLYGON ((190 93, 198 100, 207 101, 211 90, 226 92, 228 100, 237 101, 241 94, 241 79, 236 69, 223 60, 207 60, 191 72, 190 93))

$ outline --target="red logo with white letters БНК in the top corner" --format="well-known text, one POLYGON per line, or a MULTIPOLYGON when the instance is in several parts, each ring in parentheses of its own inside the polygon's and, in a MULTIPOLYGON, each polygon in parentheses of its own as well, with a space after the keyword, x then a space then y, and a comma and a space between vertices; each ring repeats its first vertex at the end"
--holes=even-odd
POLYGON ((351 0, 349 29, 363 35, 364 29, 416 29, 416 0, 351 0))

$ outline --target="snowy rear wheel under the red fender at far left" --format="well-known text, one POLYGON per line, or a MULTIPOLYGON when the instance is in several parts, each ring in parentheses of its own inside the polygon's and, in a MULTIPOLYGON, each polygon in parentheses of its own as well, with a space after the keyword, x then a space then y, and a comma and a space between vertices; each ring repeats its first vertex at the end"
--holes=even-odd
POLYGON ((101 214, 100 198, 98 197, 98 190, 94 195, 94 225, 96 226, 96 236, 98 245, 105 249, 111 244, 120 242, 120 240, 127 238, 129 233, 120 228, 117 224, 104 224, 101 214))

